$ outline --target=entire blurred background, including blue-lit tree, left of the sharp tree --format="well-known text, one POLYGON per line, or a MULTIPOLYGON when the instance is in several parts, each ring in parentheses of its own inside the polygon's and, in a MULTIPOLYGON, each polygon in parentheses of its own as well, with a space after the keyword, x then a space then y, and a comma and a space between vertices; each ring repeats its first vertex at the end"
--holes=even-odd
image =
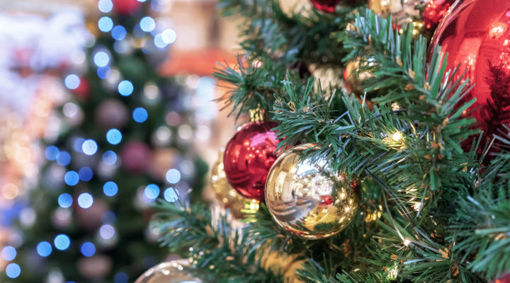
POLYGON ((0 282, 133 282, 172 258, 151 204, 208 190, 235 129, 216 5, 0 0, 0 282))

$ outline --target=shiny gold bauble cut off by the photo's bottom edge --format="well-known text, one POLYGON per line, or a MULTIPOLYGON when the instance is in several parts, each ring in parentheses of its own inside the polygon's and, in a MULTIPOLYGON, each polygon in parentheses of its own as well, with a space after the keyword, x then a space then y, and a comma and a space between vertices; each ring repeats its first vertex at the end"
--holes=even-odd
POLYGON ((151 267, 135 283, 201 283, 186 268, 188 260, 172 260, 151 267))

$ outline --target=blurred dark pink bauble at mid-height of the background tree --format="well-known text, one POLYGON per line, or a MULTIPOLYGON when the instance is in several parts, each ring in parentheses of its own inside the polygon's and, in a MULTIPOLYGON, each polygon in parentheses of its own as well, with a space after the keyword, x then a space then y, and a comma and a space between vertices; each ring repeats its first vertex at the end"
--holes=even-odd
POLYGON ((126 172, 144 173, 152 163, 152 150, 143 141, 129 141, 120 149, 120 161, 126 172))

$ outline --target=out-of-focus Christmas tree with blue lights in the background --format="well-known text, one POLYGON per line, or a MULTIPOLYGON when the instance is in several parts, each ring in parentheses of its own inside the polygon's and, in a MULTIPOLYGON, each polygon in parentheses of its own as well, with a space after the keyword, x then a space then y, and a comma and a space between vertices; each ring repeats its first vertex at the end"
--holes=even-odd
POLYGON ((9 280, 132 282, 166 255, 147 226, 151 204, 200 193, 207 166, 190 151, 191 88, 157 72, 176 39, 153 18, 160 5, 98 1, 86 71, 65 76, 76 99, 21 213, 9 280))

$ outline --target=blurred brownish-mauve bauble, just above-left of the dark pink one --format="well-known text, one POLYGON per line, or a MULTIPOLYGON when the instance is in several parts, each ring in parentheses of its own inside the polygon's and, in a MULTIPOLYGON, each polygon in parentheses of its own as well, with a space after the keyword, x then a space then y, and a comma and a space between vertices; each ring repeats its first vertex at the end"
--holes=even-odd
POLYGON ((96 109, 96 122, 103 129, 122 128, 128 122, 128 108, 119 100, 108 99, 96 109))

